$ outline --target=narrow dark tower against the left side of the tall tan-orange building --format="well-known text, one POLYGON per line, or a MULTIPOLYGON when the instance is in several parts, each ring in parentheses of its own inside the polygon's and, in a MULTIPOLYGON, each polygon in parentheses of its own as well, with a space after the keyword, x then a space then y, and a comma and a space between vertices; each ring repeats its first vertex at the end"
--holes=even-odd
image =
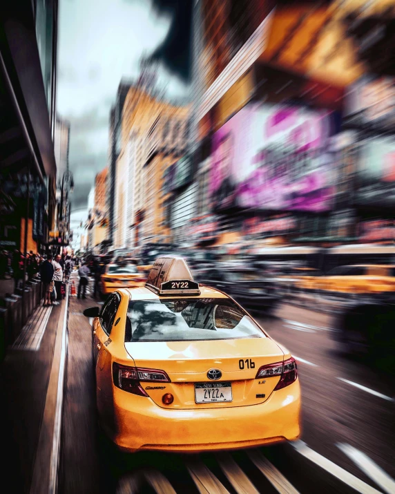
POLYGON ((115 184, 117 180, 117 159, 121 151, 121 128, 124 102, 131 83, 121 81, 117 90, 115 104, 110 111, 110 133, 108 140, 108 187, 107 187, 107 211, 108 211, 108 239, 114 241, 117 220, 115 218, 115 184))

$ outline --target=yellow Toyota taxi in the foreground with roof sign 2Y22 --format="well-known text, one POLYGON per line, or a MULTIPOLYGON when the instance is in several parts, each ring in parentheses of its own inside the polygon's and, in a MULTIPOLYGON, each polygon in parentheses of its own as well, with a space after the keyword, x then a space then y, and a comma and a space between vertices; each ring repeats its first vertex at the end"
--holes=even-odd
POLYGON ((232 298, 159 258, 93 320, 97 409, 124 451, 246 448, 297 439, 296 361, 232 298))

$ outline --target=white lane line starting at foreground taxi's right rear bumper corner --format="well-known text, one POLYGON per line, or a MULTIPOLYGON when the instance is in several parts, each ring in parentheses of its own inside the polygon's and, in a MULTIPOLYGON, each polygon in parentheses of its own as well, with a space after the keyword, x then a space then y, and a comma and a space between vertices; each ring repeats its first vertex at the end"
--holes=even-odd
POLYGON ((381 494, 380 491, 377 491, 375 488, 369 486, 363 482, 363 480, 358 479, 358 477, 352 475, 352 473, 347 472, 344 468, 341 468, 341 466, 331 462, 330 459, 316 453, 316 451, 309 448, 305 442, 299 440, 291 443, 291 446, 293 446, 293 448, 295 448, 300 455, 320 466, 331 475, 334 475, 334 477, 344 482, 347 486, 354 488, 358 493, 381 494))

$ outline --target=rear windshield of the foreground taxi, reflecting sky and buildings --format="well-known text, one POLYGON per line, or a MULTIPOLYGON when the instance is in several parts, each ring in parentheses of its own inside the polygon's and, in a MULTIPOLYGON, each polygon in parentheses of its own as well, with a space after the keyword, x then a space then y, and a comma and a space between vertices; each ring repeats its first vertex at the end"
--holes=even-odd
POLYGON ((202 341, 265 338, 227 298, 139 300, 128 305, 125 341, 202 341))

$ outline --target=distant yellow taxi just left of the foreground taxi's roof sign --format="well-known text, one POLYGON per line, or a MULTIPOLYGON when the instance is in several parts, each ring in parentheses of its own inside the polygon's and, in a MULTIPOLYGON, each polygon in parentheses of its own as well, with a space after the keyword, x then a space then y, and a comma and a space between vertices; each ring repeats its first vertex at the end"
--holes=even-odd
POLYGON ((109 264, 101 276, 100 292, 103 296, 124 287, 144 286, 145 271, 135 264, 109 264))

